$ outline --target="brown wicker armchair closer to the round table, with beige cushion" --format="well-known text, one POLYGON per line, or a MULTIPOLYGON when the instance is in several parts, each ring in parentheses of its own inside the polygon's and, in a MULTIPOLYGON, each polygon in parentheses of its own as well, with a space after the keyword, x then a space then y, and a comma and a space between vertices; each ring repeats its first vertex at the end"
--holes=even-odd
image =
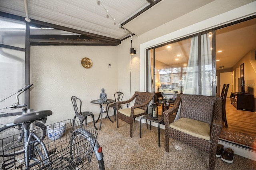
POLYGON ((118 128, 118 119, 130 124, 130 137, 132 138, 132 119, 147 114, 148 103, 152 100, 153 96, 154 93, 136 91, 131 99, 117 102, 116 108, 120 108, 122 104, 130 103, 135 99, 133 107, 116 110, 116 127, 118 128))

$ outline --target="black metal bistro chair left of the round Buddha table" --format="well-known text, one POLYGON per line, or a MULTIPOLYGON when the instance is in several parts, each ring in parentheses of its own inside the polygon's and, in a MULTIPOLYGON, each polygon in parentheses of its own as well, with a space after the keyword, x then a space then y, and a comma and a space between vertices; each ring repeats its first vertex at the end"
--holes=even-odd
MULTIPOLYGON (((75 110, 75 113, 76 113, 76 115, 74 116, 74 120, 76 119, 76 117, 78 117, 78 119, 79 119, 79 121, 81 122, 81 125, 82 125, 82 123, 84 122, 84 119, 85 119, 85 124, 87 125, 87 117, 92 116, 93 125, 94 125, 95 129, 97 130, 98 128, 96 128, 96 126, 95 126, 93 113, 89 112, 89 111, 81 112, 82 101, 79 98, 77 98, 76 96, 72 96, 71 101, 72 101, 72 104, 73 104, 73 107, 74 107, 74 110, 75 110), (79 103, 77 103, 77 100, 79 101, 79 103), (80 105, 79 110, 78 110, 78 104, 80 105)), ((74 124, 74 121, 73 121, 73 124, 74 124)))

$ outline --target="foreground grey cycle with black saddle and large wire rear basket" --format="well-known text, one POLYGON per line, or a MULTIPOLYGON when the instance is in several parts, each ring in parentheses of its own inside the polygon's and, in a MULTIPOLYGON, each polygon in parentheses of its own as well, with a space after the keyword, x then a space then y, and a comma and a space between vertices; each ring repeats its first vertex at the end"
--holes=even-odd
MULTIPOLYGON (((52 141, 49 140, 49 136, 42 140, 41 136, 35 134, 33 123, 35 121, 45 122, 46 117, 50 115, 52 115, 50 110, 28 109, 26 114, 14 119, 14 123, 22 123, 24 156, 15 154, 15 146, 8 149, 2 147, 0 156, 2 169, 22 169, 24 165, 25 169, 84 169, 91 166, 92 162, 96 162, 98 169, 104 170, 102 147, 96 141, 98 132, 94 128, 78 121, 72 121, 72 123, 75 122, 72 126, 71 121, 66 120, 62 121, 66 129, 64 137, 57 138, 60 130, 54 131, 54 140, 52 141), (68 129, 70 130, 68 131, 68 129), (13 156, 5 154, 10 150, 11 153, 14 153, 13 156), (93 152, 94 154, 92 154, 93 152)), ((14 140, 15 135, 7 138, 14 140)), ((0 140, 0 144, 3 145, 5 140, 6 138, 0 140)))

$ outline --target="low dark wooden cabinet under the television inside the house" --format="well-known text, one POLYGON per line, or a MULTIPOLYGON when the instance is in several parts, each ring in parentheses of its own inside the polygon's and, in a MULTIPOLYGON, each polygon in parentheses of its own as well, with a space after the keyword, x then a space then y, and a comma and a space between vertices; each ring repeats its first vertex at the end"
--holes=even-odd
POLYGON ((231 104, 236 107, 237 110, 250 110, 252 111, 254 105, 254 97, 249 94, 232 93, 231 92, 231 104))

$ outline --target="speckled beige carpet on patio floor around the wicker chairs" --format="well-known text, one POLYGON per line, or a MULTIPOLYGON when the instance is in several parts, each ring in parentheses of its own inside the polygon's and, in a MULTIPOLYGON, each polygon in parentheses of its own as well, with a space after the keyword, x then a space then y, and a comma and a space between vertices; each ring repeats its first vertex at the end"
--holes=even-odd
MULTIPOLYGON (((110 117, 114 120, 114 117, 110 117)), ((93 127, 92 122, 88 123, 93 127)), ((100 126, 100 121, 96 127, 100 126)), ((130 125, 119 120, 116 122, 103 119, 101 130, 98 131, 98 142, 103 148, 106 170, 207 170, 209 156, 206 152, 170 139, 169 152, 164 149, 164 130, 160 129, 158 147, 158 130, 146 128, 142 123, 140 138, 140 122, 133 125, 133 137, 130 138, 130 125), (175 145, 182 147, 178 151, 175 145)), ((235 155, 234 163, 229 164, 216 158, 216 170, 252 170, 256 169, 256 161, 235 155)))

